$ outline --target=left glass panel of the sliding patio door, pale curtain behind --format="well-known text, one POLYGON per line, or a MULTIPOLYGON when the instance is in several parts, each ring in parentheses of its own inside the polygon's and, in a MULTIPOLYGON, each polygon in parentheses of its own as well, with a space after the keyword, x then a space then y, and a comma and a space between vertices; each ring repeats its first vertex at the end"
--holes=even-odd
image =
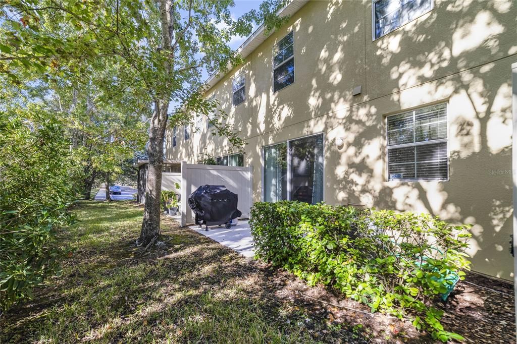
POLYGON ((264 200, 287 199, 287 143, 264 148, 264 200))

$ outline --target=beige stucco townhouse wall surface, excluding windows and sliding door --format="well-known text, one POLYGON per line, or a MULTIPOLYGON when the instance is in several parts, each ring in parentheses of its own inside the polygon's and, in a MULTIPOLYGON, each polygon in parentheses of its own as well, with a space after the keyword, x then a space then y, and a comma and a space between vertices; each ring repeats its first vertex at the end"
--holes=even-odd
MULTIPOLYGON (((371 1, 309 2, 269 37, 244 66, 207 91, 248 145, 255 201, 262 198, 262 147, 324 133, 325 201, 422 211, 472 223, 473 270, 510 279, 512 216, 511 69, 517 61, 517 3, 440 1, 434 9, 372 41, 371 1), (272 46, 295 36, 295 83, 272 91, 272 46), (232 80, 245 72, 246 101, 231 102, 232 80), (359 96, 352 96, 355 86, 359 96), (387 181, 386 115, 448 104, 450 180, 387 181), (344 145, 336 147, 334 139, 344 145)), ((223 155, 222 137, 202 131, 166 158, 196 162, 223 155)))

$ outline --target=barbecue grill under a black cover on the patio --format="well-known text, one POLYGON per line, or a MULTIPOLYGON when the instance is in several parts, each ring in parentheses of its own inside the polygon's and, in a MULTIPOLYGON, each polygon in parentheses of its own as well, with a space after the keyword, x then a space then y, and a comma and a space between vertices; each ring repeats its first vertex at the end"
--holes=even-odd
POLYGON ((224 185, 201 185, 188 199, 196 225, 222 225, 239 217, 237 195, 224 185))

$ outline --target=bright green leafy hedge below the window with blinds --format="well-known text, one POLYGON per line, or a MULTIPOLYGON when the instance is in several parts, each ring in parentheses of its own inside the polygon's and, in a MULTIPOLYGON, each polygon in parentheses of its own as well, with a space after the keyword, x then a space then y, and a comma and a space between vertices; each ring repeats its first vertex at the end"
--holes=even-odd
MULTIPOLYGON (((413 317, 435 339, 461 339, 444 331, 433 307, 469 261, 468 226, 428 214, 258 202, 251 210, 257 258, 399 318, 413 317)), ((463 277, 461 277, 463 278, 463 277)))

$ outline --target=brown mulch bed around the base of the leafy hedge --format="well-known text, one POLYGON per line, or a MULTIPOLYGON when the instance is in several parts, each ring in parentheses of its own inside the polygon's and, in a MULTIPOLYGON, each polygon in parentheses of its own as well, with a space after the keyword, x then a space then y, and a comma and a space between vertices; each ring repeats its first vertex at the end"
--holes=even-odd
MULTIPOLYGON (((306 307, 313 316, 324 316, 331 324, 362 325, 362 334, 370 342, 436 342, 418 332, 409 321, 371 314, 369 307, 343 298, 337 291, 324 286, 309 287, 287 271, 251 259, 249 262, 265 274, 266 288, 277 298, 306 307)), ((445 330, 462 335, 466 343, 515 343, 514 292, 508 282, 470 272, 438 308, 444 310, 445 330)))

